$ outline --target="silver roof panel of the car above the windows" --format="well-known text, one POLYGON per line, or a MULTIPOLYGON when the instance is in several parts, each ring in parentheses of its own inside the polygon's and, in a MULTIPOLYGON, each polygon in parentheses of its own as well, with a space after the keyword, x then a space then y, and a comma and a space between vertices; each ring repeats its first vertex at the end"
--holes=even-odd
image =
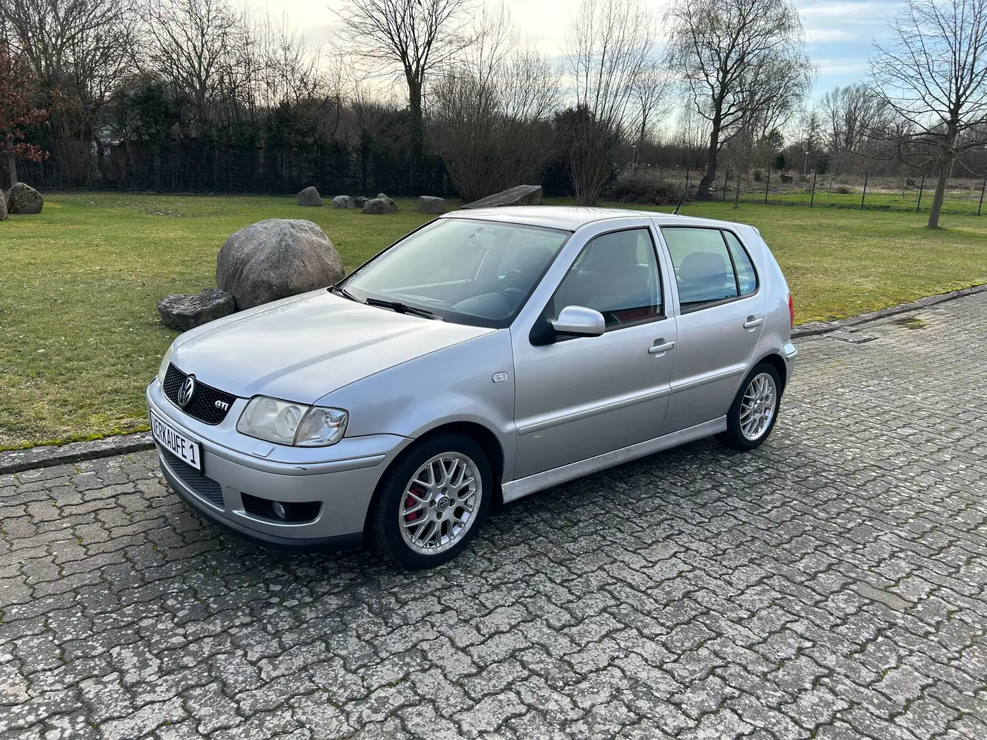
POLYGON ((618 220, 627 217, 658 219, 663 225, 682 226, 733 226, 729 221, 712 218, 680 216, 660 211, 635 210, 631 208, 600 208, 575 205, 503 205, 494 208, 471 208, 450 211, 441 218, 464 218, 501 223, 543 226, 550 229, 577 231, 583 226, 601 221, 618 220))

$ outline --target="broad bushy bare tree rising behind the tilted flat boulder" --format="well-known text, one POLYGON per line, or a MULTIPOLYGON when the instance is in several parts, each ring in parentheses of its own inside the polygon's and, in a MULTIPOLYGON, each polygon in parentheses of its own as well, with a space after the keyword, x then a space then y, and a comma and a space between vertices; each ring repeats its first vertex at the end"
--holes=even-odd
POLYGON ((486 8, 477 42, 431 86, 431 139, 464 200, 540 181, 552 155, 559 75, 517 47, 502 5, 486 8))

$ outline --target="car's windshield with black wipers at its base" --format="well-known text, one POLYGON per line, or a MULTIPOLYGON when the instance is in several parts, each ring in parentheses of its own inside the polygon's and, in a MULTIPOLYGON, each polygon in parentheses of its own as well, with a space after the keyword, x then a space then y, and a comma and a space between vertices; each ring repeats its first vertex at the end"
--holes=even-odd
POLYGON ((354 298, 423 309, 446 321, 510 325, 569 232, 441 218, 356 269, 354 298))

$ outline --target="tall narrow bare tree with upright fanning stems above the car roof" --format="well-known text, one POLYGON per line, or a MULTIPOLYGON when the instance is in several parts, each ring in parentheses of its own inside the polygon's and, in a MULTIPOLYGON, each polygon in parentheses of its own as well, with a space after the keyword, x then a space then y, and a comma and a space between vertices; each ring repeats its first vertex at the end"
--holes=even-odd
POLYGON ((635 126, 636 85, 653 50, 653 19, 639 0, 582 0, 566 59, 575 109, 569 126, 573 194, 592 205, 635 126))

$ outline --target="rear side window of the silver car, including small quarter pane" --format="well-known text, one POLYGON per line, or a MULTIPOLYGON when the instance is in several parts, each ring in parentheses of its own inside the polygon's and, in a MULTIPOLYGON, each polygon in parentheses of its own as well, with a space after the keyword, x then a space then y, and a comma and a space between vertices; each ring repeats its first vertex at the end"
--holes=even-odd
POLYGON ((757 290, 757 273, 743 245, 720 229, 661 229, 675 269, 679 303, 693 311, 757 290))

